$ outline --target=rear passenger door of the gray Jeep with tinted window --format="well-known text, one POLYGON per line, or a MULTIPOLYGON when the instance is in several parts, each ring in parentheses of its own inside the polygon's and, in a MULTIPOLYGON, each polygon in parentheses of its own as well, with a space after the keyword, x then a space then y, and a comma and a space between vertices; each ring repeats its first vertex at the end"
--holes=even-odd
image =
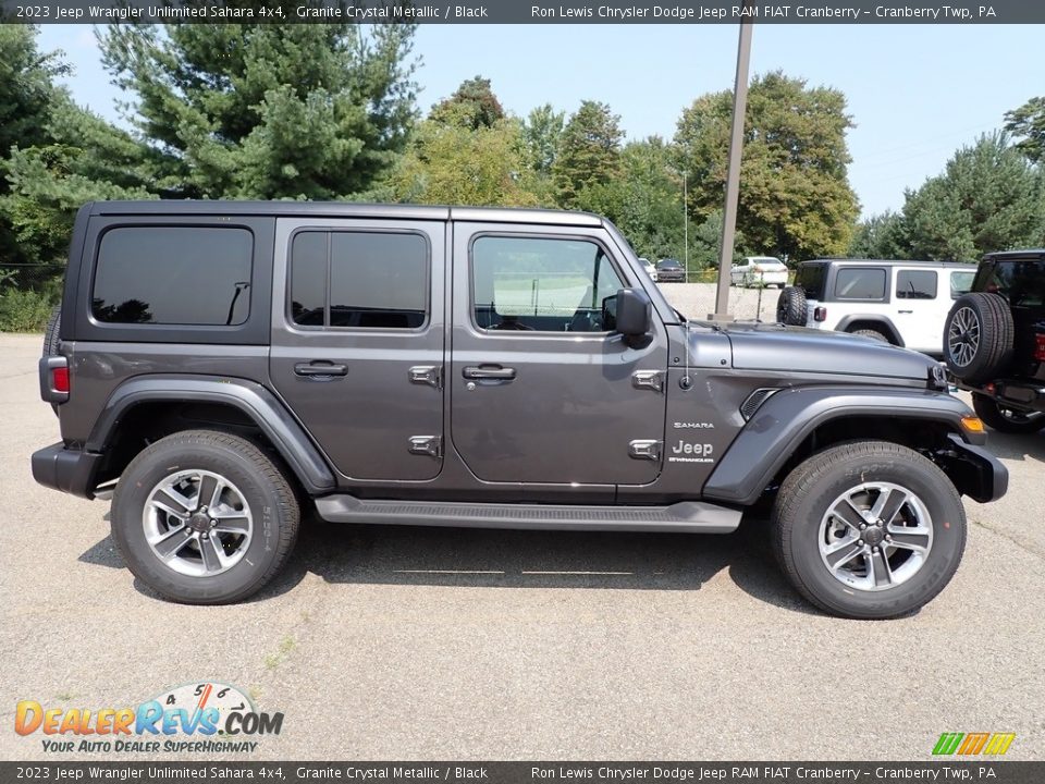
POLYGON ((270 375, 343 478, 442 468, 445 223, 281 218, 270 375))

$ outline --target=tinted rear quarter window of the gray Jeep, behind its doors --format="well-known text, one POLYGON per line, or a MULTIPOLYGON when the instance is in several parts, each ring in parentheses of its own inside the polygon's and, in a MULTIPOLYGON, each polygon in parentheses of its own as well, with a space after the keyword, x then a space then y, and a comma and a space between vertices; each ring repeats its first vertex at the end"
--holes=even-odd
POLYGON ((237 326, 250 311, 246 229, 116 226, 101 236, 91 315, 112 324, 237 326))

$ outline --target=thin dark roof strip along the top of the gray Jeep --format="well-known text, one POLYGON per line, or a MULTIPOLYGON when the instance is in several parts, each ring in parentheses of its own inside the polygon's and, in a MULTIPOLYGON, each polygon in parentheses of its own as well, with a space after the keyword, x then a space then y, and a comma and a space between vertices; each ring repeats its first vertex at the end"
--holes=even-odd
POLYGON ((499 223, 552 223, 598 226, 601 217, 590 212, 514 207, 451 207, 354 201, 232 201, 225 199, 167 199, 143 201, 94 201, 97 216, 234 215, 324 218, 386 218, 390 220, 459 220, 499 223))

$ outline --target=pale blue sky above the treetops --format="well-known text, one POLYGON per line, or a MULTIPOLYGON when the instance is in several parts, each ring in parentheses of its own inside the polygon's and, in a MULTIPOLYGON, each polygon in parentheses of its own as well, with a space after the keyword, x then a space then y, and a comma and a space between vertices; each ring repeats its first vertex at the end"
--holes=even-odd
MULTIPOLYGON (((421 25, 415 54, 427 111, 464 79, 492 81, 525 117, 551 102, 571 112, 601 100, 628 139, 669 138, 684 107, 732 89, 739 27, 713 25, 421 25)), ((938 174, 955 150, 1045 95, 1042 25, 755 25, 751 73, 783 70, 845 93, 849 181, 863 217, 903 206, 905 188, 938 174)), ((73 96, 111 120, 127 100, 101 68, 90 25, 44 25, 62 49, 73 96)))

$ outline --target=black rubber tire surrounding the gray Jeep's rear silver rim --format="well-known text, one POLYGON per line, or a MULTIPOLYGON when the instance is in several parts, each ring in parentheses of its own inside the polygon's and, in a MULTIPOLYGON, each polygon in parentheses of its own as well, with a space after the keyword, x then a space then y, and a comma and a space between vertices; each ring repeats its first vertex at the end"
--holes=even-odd
POLYGON ((177 432, 145 449, 124 469, 111 510, 112 539, 131 572, 160 596, 186 604, 226 604, 256 593, 286 562, 299 524, 294 490, 275 463, 250 441, 212 430, 177 432), (212 575, 175 571, 146 539, 144 515, 152 490, 194 469, 231 481, 257 519, 239 560, 212 575))

